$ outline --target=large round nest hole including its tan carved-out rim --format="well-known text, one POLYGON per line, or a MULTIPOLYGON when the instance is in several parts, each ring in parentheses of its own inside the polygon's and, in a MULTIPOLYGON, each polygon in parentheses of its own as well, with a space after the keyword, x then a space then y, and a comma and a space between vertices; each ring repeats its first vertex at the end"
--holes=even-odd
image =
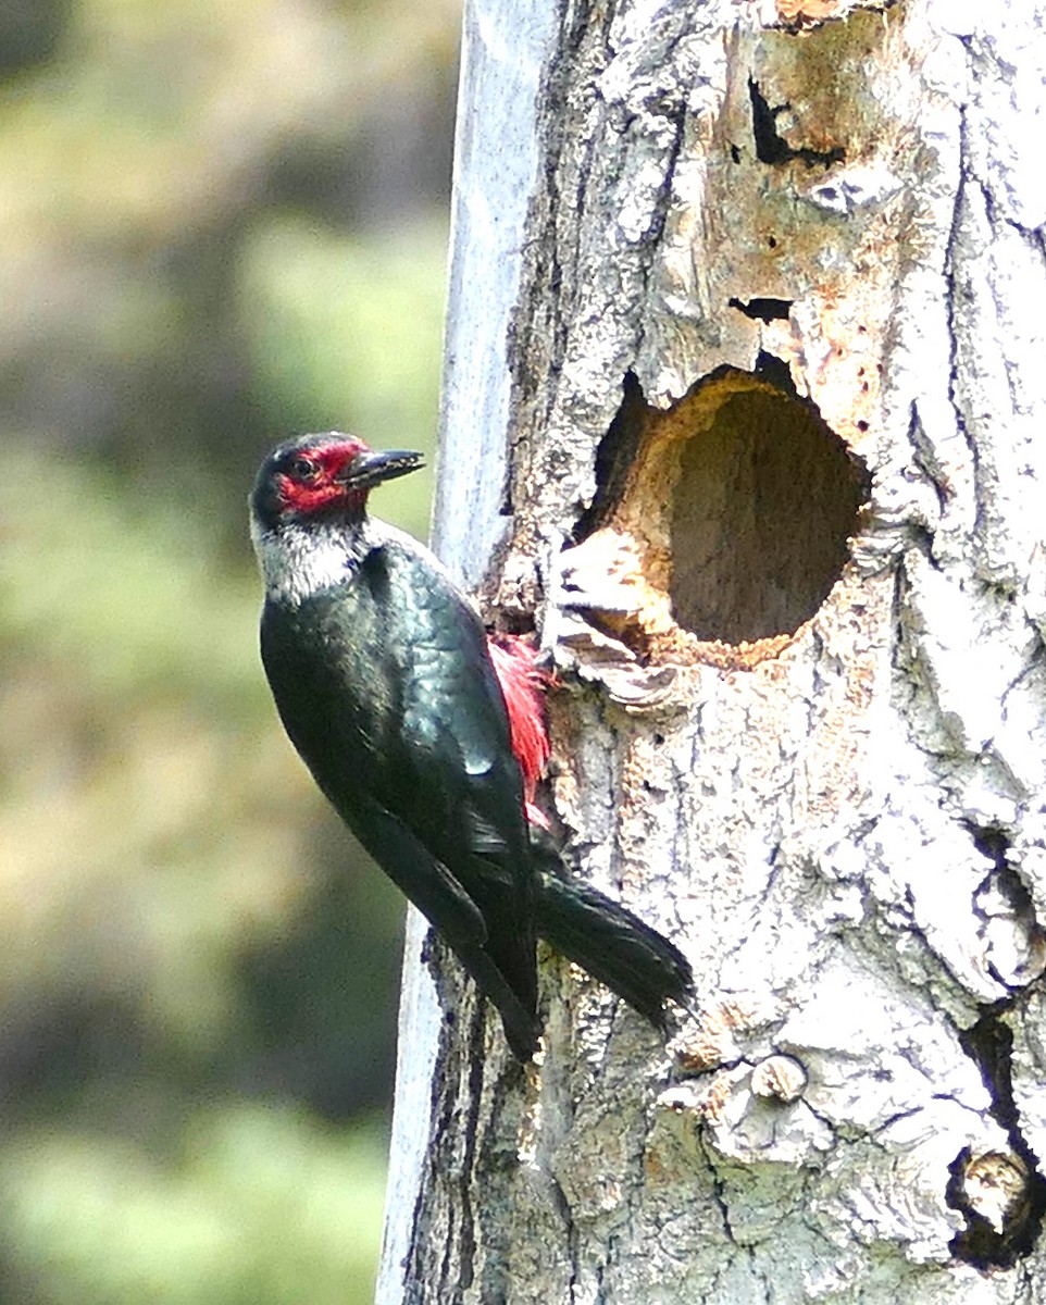
POLYGON ((604 613, 614 634, 653 660, 736 667, 776 655, 814 616, 870 488, 768 355, 756 372, 720 369, 666 411, 627 377, 596 472, 575 538, 605 531, 618 559, 625 540, 638 568, 635 609, 604 613))

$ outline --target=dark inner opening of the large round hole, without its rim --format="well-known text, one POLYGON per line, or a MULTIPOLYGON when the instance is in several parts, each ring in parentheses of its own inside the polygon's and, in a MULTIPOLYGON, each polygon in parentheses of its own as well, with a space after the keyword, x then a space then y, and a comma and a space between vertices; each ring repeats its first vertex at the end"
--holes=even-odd
POLYGON ((676 620, 700 639, 792 634, 839 579, 867 497, 816 408, 766 384, 707 386, 672 505, 676 620))

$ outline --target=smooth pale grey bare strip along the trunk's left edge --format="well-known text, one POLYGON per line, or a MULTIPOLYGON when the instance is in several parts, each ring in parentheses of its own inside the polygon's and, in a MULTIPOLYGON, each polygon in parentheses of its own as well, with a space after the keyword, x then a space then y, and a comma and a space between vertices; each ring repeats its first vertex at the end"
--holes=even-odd
MULTIPOLYGON (((505 339, 519 296, 523 227, 537 168, 539 73, 550 10, 505 16, 500 0, 464 13, 433 548, 466 586, 483 579, 502 534, 509 373, 505 339), (481 475, 476 472, 481 468, 481 475)), ((395 1108, 376 1305, 410 1297, 411 1244, 429 1144, 442 1013, 423 964, 426 933, 407 919, 395 1108)))

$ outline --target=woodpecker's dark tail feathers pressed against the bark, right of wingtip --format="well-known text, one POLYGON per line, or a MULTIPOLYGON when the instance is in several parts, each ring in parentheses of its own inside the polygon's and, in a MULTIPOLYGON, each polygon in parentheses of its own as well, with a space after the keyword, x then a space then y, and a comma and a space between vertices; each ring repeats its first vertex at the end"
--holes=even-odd
POLYGON ((565 873, 543 868, 536 897, 537 933, 664 1031, 665 1000, 685 1004, 694 984, 680 949, 621 903, 565 873))

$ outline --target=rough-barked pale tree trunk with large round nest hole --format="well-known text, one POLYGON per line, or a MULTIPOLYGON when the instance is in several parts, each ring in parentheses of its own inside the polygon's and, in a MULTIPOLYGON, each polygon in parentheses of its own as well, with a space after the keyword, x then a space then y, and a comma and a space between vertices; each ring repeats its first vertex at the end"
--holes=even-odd
POLYGON ((1043 1300, 1046 13, 513 8, 437 539, 696 1002, 665 1048, 549 954, 523 1071, 415 928, 378 1300, 1043 1300))

